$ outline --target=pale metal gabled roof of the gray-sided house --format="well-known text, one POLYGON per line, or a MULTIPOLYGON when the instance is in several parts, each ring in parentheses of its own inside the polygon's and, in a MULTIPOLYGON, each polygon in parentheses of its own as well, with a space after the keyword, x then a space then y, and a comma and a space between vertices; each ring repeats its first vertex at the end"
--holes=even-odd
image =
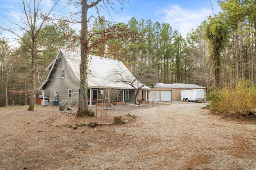
MULTIPOLYGON (((65 49, 60 49, 56 59, 51 63, 51 70, 48 75, 46 82, 40 87, 42 89, 47 83, 49 76, 52 72, 52 68, 58 57, 63 55, 64 59, 66 59, 67 63, 69 64, 70 68, 74 72, 76 78, 80 80, 80 53, 77 52, 69 52, 65 49)), ((99 57, 95 55, 89 55, 89 62, 88 62, 88 87, 89 88, 97 88, 98 86, 108 86, 111 88, 119 88, 119 89, 133 89, 130 85, 125 84, 123 82, 114 82, 113 71, 116 69, 122 70, 125 72, 126 78, 130 78, 130 80, 134 79, 132 73, 126 68, 126 66, 121 62, 114 59, 108 59, 104 57, 99 57)), ((48 67, 49 68, 49 67, 48 67)), ((116 75, 118 76, 118 75, 116 75)), ((137 86, 141 86, 142 84, 136 81, 137 86)), ((149 87, 145 86, 142 90, 148 90, 149 87)))

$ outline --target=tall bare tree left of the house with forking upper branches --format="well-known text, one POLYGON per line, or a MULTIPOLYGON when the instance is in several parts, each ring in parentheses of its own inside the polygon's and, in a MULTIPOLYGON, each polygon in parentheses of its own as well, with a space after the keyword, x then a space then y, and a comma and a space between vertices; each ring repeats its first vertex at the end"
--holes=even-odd
POLYGON ((16 36, 16 40, 22 41, 30 48, 31 55, 31 93, 30 93, 30 104, 28 110, 34 110, 34 96, 35 96, 35 73, 36 73, 36 64, 35 60, 37 57, 38 48, 37 42, 40 29, 46 25, 46 23, 51 19, 52 11, 60 0, 52 1, 53 4, 48 8, 48 12, 43 10, 43 0, 22 0, 21 8, 22 15, 17 18, 11 16, 6 20, 10 23, 10 26, 0 26, 0 29, 9 31, 10 33, 16 36), (20 35, 20 31, 26 33, 28 37, 20 35))

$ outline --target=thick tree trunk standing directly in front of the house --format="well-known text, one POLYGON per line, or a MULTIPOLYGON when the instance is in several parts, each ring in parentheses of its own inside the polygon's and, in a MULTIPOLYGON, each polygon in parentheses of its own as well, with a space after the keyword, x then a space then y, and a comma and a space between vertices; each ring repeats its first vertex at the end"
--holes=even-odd
POLYGON ((87 42, 87 0, 82 0, 82 18, 81 18, 81 62, 80 62, 80 94, 79 94, 79 107, 76 117, 81 117, 88 114, 88 99, 87 99, 87 55, 88 55, 88 42, 87 42))

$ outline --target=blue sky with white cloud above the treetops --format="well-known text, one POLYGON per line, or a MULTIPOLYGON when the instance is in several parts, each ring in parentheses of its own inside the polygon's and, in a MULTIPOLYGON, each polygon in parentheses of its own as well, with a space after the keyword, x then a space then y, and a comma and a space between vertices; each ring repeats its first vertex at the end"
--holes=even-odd
MULTIPOLYGON (((20 12, 17 2, 21 0, 0 0, 0 24, 4 26, 6 21, 2 16, 6 11, 14 14, 20 12)), ((45 6, 50 7, 52 0, 43 0, 45 6)), ((113 0, 115 1, 115 0, 113 0)), ((117 6, 118 8, 119 6, 117 6)), ((188 31, 196 28, 206 20, 208 16, 212 16, 212 7, 214 14, 220 12, 217 0, 129 0, 129 4, 125 5, 122 14, 111 13, 114 21, 122 21, 127 23, 132 17, 136 20, 152 20, 160 23, 170 23, 173 30, 176 29, 186 37, 188 31)), ((68 11, 68 10, 67 10, 68 11)), ((106 19, 111 19, 108 13, 102 13, 106 19)), ((79 29, 80 25, 76 25, 75 29, 79 29)), ((2 32, 3 33, 3 32, 2 32)), ((3 33, 5 37, 10 36, 3 33)))

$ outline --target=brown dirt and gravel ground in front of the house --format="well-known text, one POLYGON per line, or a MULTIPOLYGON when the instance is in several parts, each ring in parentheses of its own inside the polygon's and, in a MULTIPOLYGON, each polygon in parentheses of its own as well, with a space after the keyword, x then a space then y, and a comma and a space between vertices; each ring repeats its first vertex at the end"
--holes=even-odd
POLYGON ((223 119, 205 105, 97 107, 81 118, 58 106, 0 108, 0 170, 256 169, 255 116, 223 119), (126 123, 110 125, 115 116, 126 123))

